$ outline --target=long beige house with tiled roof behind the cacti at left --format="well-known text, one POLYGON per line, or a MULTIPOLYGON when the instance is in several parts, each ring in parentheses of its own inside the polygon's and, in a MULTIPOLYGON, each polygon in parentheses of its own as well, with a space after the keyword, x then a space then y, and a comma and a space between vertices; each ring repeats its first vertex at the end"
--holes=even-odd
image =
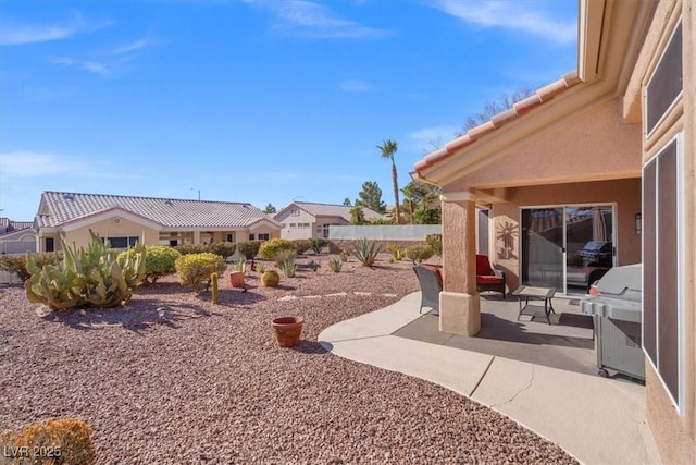
POLYGON ((210 244, 279 237, 281 225, 251 204, 45 192, 34 221, 37 249, 87 245, 89 230, 113 247, 210 244))

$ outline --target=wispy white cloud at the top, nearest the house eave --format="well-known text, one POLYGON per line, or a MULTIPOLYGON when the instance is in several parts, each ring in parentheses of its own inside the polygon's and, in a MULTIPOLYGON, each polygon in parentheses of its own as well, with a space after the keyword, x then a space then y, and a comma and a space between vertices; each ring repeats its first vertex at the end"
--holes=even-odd
POLYGON ((436 0, 435 8, 465 23, 481 27, 502 27, 546 37, 560 44, 576 40, 577 26, 550 17, 529 1, 436 0))

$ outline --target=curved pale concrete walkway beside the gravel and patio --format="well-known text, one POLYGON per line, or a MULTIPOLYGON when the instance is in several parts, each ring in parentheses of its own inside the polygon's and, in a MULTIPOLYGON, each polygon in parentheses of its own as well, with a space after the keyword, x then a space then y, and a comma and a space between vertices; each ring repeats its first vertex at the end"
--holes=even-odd
POLYGON ((393 335, 419 318, 420 292, 326 328, 351 360, 425 379, 487 405, 586 464, 659 464, 645 387, 393 335))

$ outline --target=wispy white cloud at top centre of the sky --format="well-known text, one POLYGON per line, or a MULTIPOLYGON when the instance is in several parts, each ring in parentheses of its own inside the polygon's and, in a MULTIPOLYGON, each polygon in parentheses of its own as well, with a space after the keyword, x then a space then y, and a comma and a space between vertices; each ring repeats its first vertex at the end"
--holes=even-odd
POLYGON ((307 0, 250 1, 271 11, 277 24, 274 30, 314 38, 374 38, 391 33, 387 29, 362 26, 336 15, 330 8, 307 0))

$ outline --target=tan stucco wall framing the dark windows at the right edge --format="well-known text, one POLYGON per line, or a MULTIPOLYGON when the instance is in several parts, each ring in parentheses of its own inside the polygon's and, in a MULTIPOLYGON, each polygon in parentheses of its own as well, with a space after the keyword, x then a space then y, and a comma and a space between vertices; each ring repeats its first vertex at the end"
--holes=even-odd
MULTIPOLYGON (((664 463, 693 464, 696 457, 696 3, 693 1, 661 1, 648 33, 632 82, 644 87, 662 53, 667 36, 676 20, 682 19, 684 94, 662 131, 644 145, 647 161, 673 134, 684 137, 684 415, 680 415, 669 400, 661 381, 646 364, 647 416, 664 463), (639 66, 644 63, 643 66, 639 66)), ((643 88, 642 87, 642 88, 643 88)))

